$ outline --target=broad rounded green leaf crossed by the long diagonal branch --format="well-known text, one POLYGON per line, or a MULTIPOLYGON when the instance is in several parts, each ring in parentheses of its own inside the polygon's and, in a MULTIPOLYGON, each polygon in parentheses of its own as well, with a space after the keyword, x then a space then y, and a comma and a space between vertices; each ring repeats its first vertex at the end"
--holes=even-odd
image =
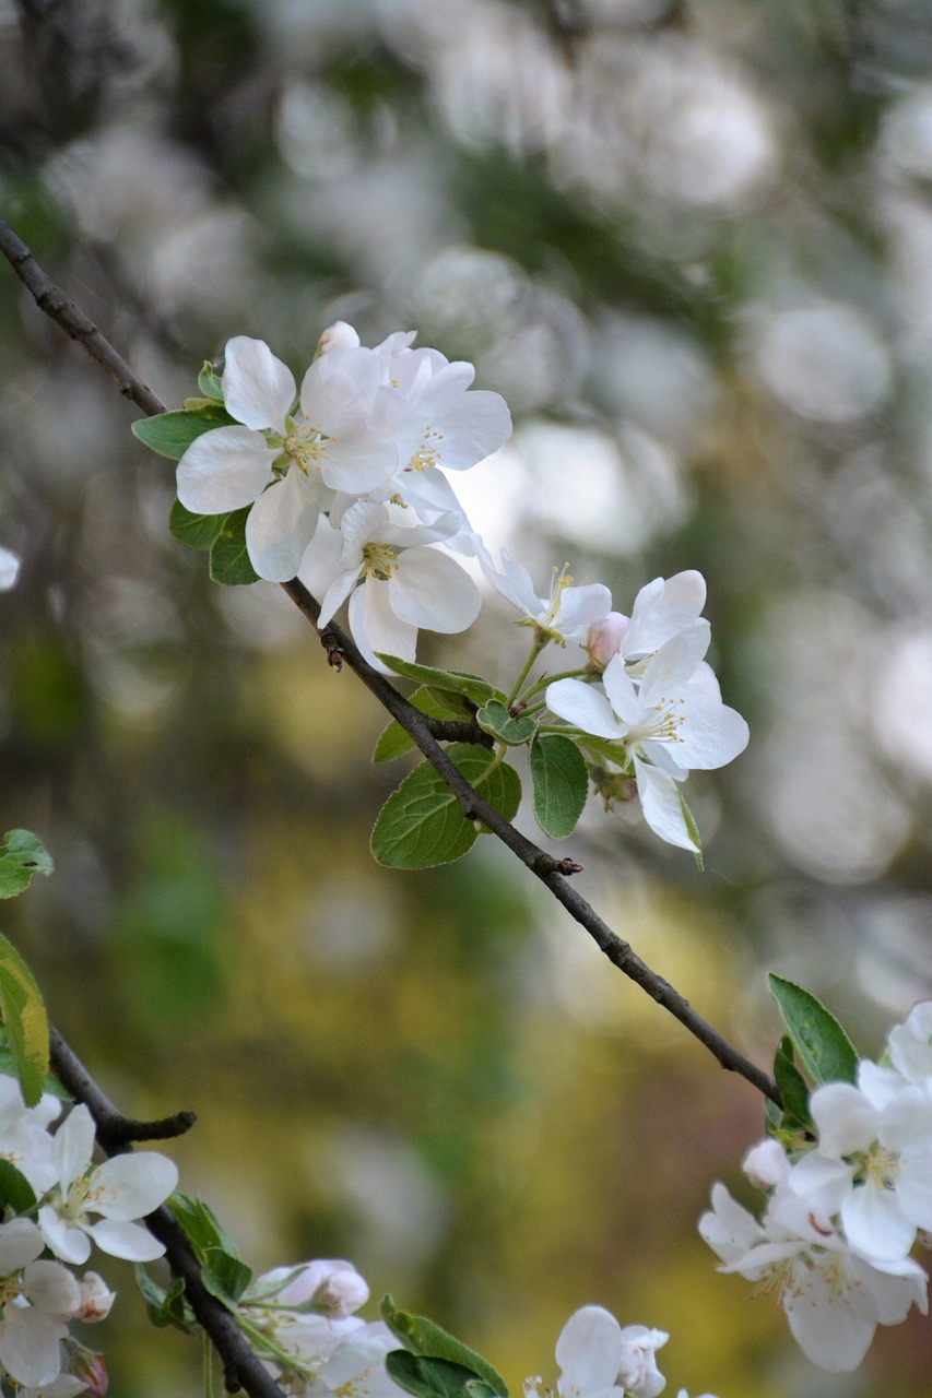
MULTIPOLYGON (((491 755, 469 742, 453 742, 446 752, 470 786, 507 821, 514 819, 521 804, 521 779, 515 769, 505 762, 493 768, 491 755)), ((463 816, 446 783, 424 762, 404 777, 379 811, 372 830, 372 854, 388 868, 425 870, 462 858, 479 833, 479 825, 463 816)))

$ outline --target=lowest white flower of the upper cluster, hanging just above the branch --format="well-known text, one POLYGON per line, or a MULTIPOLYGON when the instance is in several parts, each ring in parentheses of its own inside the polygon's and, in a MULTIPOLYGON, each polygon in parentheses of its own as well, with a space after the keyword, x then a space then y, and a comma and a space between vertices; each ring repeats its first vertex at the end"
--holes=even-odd
POLYGON ((372 500, 350 506, 339 530, 322 519, 299 572, 322 596, 319 625, 348 597, 355 643, 382 672, 375 651, 413 660, 418 628, 465 630, 481 605, 476 584, 448 554, 430 547, 458 530, 459 520, 446 516, 434 524, 402 524, 372 500))

